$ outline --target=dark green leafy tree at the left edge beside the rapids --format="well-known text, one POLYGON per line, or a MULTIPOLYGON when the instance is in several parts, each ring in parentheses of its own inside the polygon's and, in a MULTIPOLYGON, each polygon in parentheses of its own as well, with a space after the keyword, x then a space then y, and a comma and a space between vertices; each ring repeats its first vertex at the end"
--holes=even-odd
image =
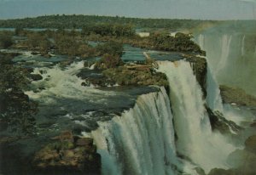
POLYGON ((32 133, 37 104, 23 93, 26 71, 13 65, 12 57, 0 53, 0 124, 15 132, 32 133))

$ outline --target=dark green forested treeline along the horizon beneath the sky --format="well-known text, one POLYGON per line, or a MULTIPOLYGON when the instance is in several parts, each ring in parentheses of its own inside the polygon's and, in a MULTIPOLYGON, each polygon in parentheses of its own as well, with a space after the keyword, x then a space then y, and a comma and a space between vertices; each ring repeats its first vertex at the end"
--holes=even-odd
POLYGON ((170 19, 139 19, 125 17, 110 17, 97 15, 47 15, 36 18, 16 20, 0 20, 0 27, 12 28, 86 28, 99 24, 133 25, 136 28, 168 28, 170 30, 191 29, 205 22, 217 23, 213 20, 170 20, 170 19))

